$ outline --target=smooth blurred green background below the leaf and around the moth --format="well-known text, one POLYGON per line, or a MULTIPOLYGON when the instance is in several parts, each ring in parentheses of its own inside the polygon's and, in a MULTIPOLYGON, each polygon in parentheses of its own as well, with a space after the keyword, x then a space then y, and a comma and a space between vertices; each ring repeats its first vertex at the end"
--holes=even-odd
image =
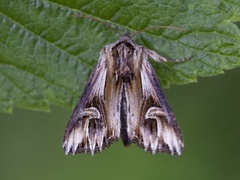
POLYGON ((240 179, 240 69, 172 85, 165 95, 181 127, 181 156, 151 155, 121 141, 94 157, 61 148, 71 110, 0 114, 0 179, 240 179))

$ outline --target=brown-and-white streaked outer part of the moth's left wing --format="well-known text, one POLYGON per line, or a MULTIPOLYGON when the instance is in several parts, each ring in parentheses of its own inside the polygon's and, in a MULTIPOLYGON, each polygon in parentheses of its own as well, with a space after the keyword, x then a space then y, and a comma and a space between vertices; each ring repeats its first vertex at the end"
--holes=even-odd
MULTIPOLYGON (((68 122, 63 139, 63 148, 69 153, 101 152, 112 141, 117 140, 114 133, 120 127, 109 126, 104 102, 107 78, 106 56, 101 53, 83 94, 68 122)), ((119 130, 118 130, 119 131, 119 130)), ((115 133, 116 134, 116 133, 115 133)))

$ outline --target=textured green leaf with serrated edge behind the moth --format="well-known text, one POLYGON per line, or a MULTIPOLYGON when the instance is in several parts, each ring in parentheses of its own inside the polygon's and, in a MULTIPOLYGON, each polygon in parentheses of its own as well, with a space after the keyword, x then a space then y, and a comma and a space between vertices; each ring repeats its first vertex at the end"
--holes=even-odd
POLYGON ((163 86, 195 82, 240 65, 239 0, 0 1, 0 111, 74 107, 100 50, 121 33, 183 63, 153 63, 163 86))

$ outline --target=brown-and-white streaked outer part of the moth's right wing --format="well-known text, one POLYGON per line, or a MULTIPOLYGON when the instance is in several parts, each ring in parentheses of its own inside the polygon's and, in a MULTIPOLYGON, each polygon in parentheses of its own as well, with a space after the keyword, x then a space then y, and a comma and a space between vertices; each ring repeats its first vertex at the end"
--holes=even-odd
POLYGON ((135 142, 153 154, 167 152, 180 155, 184 144, 179 126, 147 60, 149 55, 145 54, 140 70, 142 102, 139 126, 135 129, 138 132, 135 142))

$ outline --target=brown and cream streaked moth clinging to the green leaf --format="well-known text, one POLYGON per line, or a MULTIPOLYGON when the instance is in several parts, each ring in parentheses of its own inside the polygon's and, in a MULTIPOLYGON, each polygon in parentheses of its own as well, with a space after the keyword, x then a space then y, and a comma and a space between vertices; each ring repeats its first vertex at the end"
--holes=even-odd
POLYGON ((67 124, 66 154, 94 155, 119 138, 152 154, 181 154, 182 134, 148 59, 167 61, 129 35, 101 50, 67 124))

